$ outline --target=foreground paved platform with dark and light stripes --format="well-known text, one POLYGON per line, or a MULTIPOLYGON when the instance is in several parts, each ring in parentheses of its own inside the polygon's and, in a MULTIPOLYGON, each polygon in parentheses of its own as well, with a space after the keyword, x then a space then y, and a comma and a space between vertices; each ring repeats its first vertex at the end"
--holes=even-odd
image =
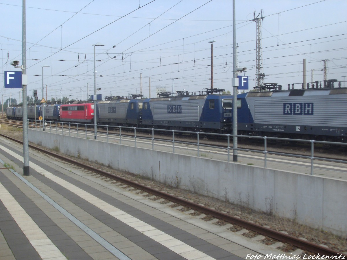
POLYGON ((246 259, 259 242, 0 138, 0 258, 246 259), (228 233, 228 234, 226 234, 228 233))

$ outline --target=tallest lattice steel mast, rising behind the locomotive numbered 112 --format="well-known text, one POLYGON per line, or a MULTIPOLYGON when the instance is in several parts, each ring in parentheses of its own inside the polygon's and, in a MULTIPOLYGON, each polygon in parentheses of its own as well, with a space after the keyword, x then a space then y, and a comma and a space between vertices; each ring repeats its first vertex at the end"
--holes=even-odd
POLYGON ((263 73, 263 62, 262 62, 262 55, 261 55, 261 28, 262 28, 262 20, 263 17, 263 10, 260 11, 260 13, 255 17, 254 12, 254 19, 252 21, 255 21, 257 25, 257 36, 256 36, 256 58, 255 58, 255 86, 259 87, 261 84, 263 84, 263 79, 265 77, 263 73), (260 16, 260 17, 259 17, 260 16))

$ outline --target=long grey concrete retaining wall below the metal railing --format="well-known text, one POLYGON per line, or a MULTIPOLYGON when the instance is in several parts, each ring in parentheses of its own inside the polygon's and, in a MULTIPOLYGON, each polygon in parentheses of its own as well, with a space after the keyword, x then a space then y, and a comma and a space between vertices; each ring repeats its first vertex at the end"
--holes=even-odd
POLYGON ((28 130, 30 142, 347 236, 347 181, 28 130))

